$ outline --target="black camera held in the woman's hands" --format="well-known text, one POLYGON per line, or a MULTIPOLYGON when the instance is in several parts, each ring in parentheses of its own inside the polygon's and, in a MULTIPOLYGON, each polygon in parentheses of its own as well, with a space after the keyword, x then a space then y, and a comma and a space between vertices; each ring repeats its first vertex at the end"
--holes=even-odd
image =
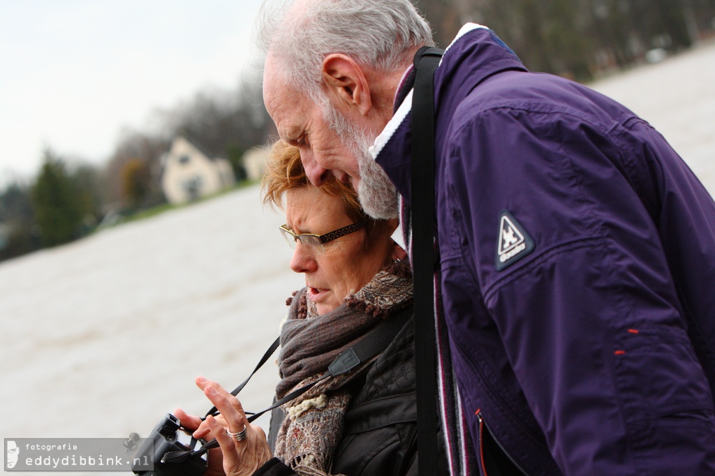
POLYGON ((132 472, 141 476, 201 476, 206 471, 205 451, 194 451, 197 440, 181 426, 179 419, 167 413, 134 455, 132 472), (146 462, 154 470, 146 470, 146 462))

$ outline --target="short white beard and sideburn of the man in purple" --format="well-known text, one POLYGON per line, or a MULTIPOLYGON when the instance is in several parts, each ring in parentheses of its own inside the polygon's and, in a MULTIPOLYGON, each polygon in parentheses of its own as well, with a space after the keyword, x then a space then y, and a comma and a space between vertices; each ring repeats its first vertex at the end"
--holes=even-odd
POLYGON ((330 103, 323 109, 328 126, 335 131, 358 161, 358 199, 365 213, 374 219, 393 219, 400 214, 398 191, 390 177, 370 155, 370 146, 375 142, 368 131, 358 129, 348 122, 330 103))

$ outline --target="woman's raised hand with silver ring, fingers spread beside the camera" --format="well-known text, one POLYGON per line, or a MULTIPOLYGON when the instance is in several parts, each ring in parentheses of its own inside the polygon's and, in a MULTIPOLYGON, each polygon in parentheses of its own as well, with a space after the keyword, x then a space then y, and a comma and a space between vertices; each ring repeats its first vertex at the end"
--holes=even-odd
POLYGON ((221 415, 218 417, 209 415, 204 422, 201 422, 198 417, 177 410, 176 417, 184 427, 189 428, 188 425, 191 425, 191 429, 196 428, 194 437, 204 440, 216 438, 219 443, 220 450, 209 451, 207 475, 215 476, 223 472, 229 476, 252 475, 271 458, 265 432, 261 427, 248 423, 241 402, 217 382, 199 376, 196 385, 204 391, 204 395, 211 400, 221 415), (187 424, 184 424, 182 416, 187 418, 187 424), (244 428, 245 440, 235 441, 227 434, 227 431, 237 433, 244 428))

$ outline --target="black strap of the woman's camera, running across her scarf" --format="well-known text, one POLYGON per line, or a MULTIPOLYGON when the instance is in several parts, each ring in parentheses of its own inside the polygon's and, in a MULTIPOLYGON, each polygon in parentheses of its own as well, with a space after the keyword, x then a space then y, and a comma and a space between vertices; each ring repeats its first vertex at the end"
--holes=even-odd
MULTIPOLYGON (((336 375, 342 375, 346 372, 350 372, 350 370, 353 370, 355 369, 355 367, 358 367, 359 365, 368 362, 370 359, 375 357, 375 355, 379 354, 380 352, 383 352, 383 350, 388 347, 390 342, 393 342, 393 339, 397 337, 397 334, 400 332, 400 330, 405 327, 405 324, 408 322, 408 320, 410 320, 410 317, 412 317, 412 311, 412 306, 407 307, 394 317, 383 322, 383 324, 380 324, 377 328, 370 331, 368 335, 363 337, 363 339, 360 339, 354 345, 348 347, 347 350, 341 352, 340 355, 335 357, 335 360, 333 360, 332 363, 328 365, 327 371, 323 375, 321 375, 318 380, 290 392, 288 395, 285 395, 285 397, 275 401, 273 405, 266 408, 265 410, 261 410, 260 412, 254 413, 250 417, 247 417, 248 422, 256 420, 265 412, 270 412, 274 408, 280 407, 281 405, 290 402, 291 400, 295 400, 297 397, 300 397, 300 395, 303 395, 305 392, 310 390, 312 387, 315 387, 315 385, 327 379, 328 377, 335 377, 336 375)), ((276 339, 270 347, 268 347, 265 354, 263 354, 263 357, 261 357, 260 362, 258 362, 258 365, 256 366, 255 370, 251 372, 251 375, 249 375, 248 378, 241 383, 241 385, 236 387, 231 392, 231 395, 236 396, 241 390, 243 390, 243 387, 245 387, 245 385, 257 372, 257 370, 259 370, 267 362, 267 360, 270 359, 271 355, 277 349, 279 343, 280 337, 276 339)), ((219 415, 219 412, 217 412, 216 407, 212 407, 211 410, 206 413, 206 416, 208 415, 216 416, 219 415)), ((162 462, 182 462, 188 457, 201 456, 211 448, 218 447, 218 445, 218 442, 214 439, 207 442, 198 450, 168 452, 166 455, 164 455, 164 457, 162 457, 162 462)))

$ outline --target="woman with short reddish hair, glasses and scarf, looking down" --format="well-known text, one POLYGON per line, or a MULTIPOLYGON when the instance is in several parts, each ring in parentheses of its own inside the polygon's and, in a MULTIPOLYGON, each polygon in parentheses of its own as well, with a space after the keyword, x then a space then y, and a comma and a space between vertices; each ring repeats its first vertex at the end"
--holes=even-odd
MULTIPOLYGON (((285 198, 286 224, 280 228, 295 247, 290 267, 305 274, 306 284, 290 299, 281 331, 280 399, 317 380, 337 354, 385 319, 411 314, 412 279, 401 261, 405 251, 390 239, 397 222, 367 217, 355 191, 334 177, 313 187, 295 147, 277 142, 263 188, 267 204, 280 207, 285 198)), ((235 397, 199 377, 197 385, 221 412, 194 432, 220 443, 222 467, 217 453, 211 453, 209 471, 416 474, 413 358, 410 319, 366 365, 330 377, 274 410, 270 444, 259 427, 247 424, 235 397)), ((199 426, 197 417, 180 410, 176 415, 185 427, 199 426)))

